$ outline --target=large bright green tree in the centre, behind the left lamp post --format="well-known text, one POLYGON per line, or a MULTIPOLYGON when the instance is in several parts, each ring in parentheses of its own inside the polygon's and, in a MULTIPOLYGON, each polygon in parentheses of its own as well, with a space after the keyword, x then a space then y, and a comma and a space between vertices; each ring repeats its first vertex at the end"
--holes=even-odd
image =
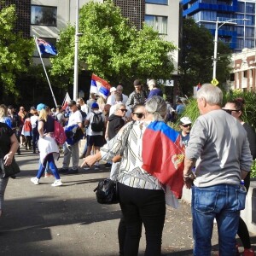
MULTIPOLYGON (((74 26, 67 26, 57 43, 52 73, 73 81, 74 26)), ((136 78, 170 79, 174 45, 151 27, 129 25, 112 1, 86 3, 79 11, 79 61, 111 84, 136 78)), ((80 67, 81 68, 81 67, 80 67)))

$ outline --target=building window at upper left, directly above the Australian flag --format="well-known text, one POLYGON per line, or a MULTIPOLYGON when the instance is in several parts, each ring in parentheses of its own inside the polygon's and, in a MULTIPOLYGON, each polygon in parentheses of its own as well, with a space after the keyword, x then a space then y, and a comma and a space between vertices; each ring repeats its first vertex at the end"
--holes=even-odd
POLYGON ((31 6, 31 24, 57 26, 57 8, 51 6, 31 6))

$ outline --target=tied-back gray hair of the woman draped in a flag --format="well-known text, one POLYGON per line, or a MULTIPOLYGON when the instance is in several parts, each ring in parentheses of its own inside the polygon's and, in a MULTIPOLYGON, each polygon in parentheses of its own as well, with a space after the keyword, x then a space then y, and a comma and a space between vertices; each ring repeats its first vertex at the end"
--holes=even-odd
POLYGON ((154 115, 154 121, 164 121, 166 119, 166 101, 160 96, 153 96, 146 102, 146 111, 154 115))

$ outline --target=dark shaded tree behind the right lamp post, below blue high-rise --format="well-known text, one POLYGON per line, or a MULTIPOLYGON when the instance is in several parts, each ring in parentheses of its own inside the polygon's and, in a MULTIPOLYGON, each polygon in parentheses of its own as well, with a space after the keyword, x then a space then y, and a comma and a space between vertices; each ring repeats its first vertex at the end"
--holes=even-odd
MULTIPOLYGON (((179 84, 183 94, 193 91, 198 83, 212 80, 213 38, 211 32, 198 26, 193 19, 183 19, 182 57, 180 61, 179 84)), ((217 79, 219 84, 226 81, 230 73, 230 49, 218 42, 217 79)))

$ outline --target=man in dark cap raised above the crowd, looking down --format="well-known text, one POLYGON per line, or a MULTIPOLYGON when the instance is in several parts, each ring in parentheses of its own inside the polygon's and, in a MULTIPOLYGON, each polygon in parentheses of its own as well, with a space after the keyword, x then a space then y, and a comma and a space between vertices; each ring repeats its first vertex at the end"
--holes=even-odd
POLYGON ((147 98, 146 93, 143 90, 143 84, 139 79, 136 79, 133 82, 133 85, 135 90, 131 92, 126 102, 126 106, 129 106, 131 108, 133 108, 133 106, 136 104, 144 104, 147 98))

